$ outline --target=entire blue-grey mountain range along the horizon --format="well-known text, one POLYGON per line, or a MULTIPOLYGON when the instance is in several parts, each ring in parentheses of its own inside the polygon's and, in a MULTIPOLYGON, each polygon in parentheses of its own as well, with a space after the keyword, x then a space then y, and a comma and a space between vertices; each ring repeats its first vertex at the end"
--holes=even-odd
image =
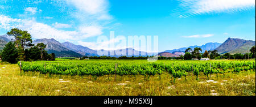
MULTIPOLYGON (((7 42, 11 41, 11 37, 7 35, 0 36, 0 50, 3 49, 5 44, 7 42)), ((46 50, 48 53, 55 53, 57 57, 82 57, 82 56, 99 56, 97 54, 97 50, 90 49, 86 46, 81 46, 81 45, 75 45, 72 44, 71 42, 63 42, 60 43, 59 41, 56 41, 55 39, 38 39, 34 40, 32 43, 33 44, 38 44, 43 42, 44 44, 47 45, 46 50)), ((188 48, 194 49, 196 47, 201 48, 204 53, 205 50, 218 50, 219 54, 224 54, 224 53, 249 53, 249 50, 252 46, 255 46, 255 41, 251 40, 242 40, 240 38, 228 38, 223 44, 217 43, 217 42, 209 42, 205 45, 201 46, 189 46, 188 48)), ((180 48, 180 49, 174 49, 174 50, 166 50, 164 52, 160 52, 157 54, 158 56, 163 56, 163 57, 179 57, 179 55, 184 55, 185 50, 187 48, 180 48)), ((126 53, 124 53, 127 57, 131 56, 151 56, 151 55, 156 55, 156 53, 146 53, 142 51, 138 51, 132 48, 127 48, 125 49, 126 53), (129 54, 128 54, 129 53, 129 54)), ((121 51, 119 50, 102 50, 105 52, 108 52, 107 56, 110 57, 120 57, 122 55, 121 51), (112 55, 110 55, 112 53, 112 55)), ((104 54, 105 55, 105 54, 104 54)))

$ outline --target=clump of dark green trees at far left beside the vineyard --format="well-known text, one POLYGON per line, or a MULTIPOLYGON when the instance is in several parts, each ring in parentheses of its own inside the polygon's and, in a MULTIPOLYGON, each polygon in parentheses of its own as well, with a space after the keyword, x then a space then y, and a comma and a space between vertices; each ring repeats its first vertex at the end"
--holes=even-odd
POLYGON ((14 37, 14 40, 8 42, 0 52, 3 62, 17 63, 18 61, 55 61, 55 54, 48 54, 46 45, 39 43, 32 44, 30 33, 13 28, 7 32, 8 36, 14 37))

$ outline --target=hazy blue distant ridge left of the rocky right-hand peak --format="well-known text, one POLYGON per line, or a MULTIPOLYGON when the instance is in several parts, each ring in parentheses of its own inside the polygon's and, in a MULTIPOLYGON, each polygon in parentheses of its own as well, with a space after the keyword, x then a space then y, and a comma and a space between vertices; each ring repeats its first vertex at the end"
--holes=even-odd
MULTIPOLYGON (((202 52, 205 52, 205 50, 214 50, 216 49, 218 46, 220 46, 221 44, 218 43, 218 42, 209 42, 205 45, 202 45, 202 46, 189 46, 188 48, 191 48, 191 49, 194 49, 194 48, 201 48, 202 49, 202 52)), ((174 53, 174 52, 185 52, 186 49, 188 48, 180 48, 180 49, 174 49, 174 50, 166 50, 164 52, 168 52, 168 53, 174 53)))

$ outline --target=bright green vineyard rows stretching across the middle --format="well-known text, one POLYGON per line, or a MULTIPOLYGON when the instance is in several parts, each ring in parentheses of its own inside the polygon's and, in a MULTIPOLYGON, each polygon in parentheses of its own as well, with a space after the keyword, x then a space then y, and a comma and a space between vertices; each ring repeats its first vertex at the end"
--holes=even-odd
MULTIPOLYGON (((20 66, 20 63, 19 63, 20 66)), ((234 61, 36 61, 22 62, 24 72, 40 72, 40 74, 56 75, 91 75, 95 79, 103 75, 143 75, 150 76, 170 74, 174 78, 204 74, 208 79, 211 75, 225 75, 227 72, 255 71, 255 60, 234 61)))

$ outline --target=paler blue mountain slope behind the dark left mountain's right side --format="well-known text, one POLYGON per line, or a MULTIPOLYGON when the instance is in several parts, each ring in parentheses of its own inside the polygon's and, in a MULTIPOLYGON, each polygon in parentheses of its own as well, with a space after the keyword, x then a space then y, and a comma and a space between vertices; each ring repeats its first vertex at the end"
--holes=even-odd
POLYGON ((65 46, 69 50, 73 50, 76 53, 80 53, 81 55, 87 55, 87 56, 97 55, 96 50, 90 49, 85 46, 75 45, 75 44, 72 44, 71 42, 63 42, 62 45, 65 46))

